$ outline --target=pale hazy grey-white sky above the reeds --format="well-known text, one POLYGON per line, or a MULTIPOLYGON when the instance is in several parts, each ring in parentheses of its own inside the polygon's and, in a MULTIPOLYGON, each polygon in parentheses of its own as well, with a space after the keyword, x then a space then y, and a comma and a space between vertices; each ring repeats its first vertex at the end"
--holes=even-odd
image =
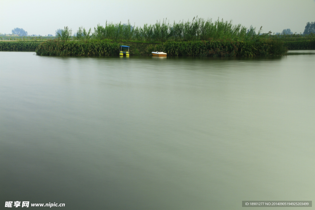
POLYGON ((306 22, 315 21, 315 0, 0 0, 0 33, 23 28, 31 34, 55 34, 68 26, 72 33, 113 23, 143 26, 167 18, 169 23, 192 20, 194 16, 232 20, 245 27, 263 26, 263 32, 304 31, 306 22))

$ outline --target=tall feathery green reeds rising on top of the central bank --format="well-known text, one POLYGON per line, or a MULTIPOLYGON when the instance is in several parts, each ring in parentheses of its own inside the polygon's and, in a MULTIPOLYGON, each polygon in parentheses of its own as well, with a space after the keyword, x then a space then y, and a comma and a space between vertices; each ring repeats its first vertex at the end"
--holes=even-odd
POLYGON ((145 24, 135 27, 128 24, 107 23, 94 28, 92 36, 95 39, 137 40, 137 41, 191 41, 209 39, 249 39, 252 34, 244 26, 233 25, 232 22, 222 20, 212 21, 203 18, 193 18, 191 21, 180 21, 173 24, 165 19, 153 25, 145 24))

